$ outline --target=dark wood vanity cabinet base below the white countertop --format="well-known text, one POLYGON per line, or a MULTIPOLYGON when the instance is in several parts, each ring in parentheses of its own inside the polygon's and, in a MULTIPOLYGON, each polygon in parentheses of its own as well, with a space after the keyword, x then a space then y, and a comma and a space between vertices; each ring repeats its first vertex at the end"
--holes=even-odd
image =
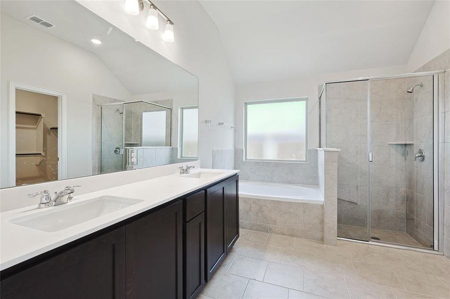
POLYGON ((239 237, 238 175, 1 271, 1 299, 194 299, 239 237))

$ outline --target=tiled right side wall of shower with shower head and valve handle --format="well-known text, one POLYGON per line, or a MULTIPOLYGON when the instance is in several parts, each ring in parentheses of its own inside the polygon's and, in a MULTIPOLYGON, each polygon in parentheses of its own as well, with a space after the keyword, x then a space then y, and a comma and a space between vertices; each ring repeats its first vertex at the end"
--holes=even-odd
POLYGON ((433 77, 407 79, 407 232, 424 247, 433 247, 433 77), (424 149, 425 160, 414 160, 424 149))

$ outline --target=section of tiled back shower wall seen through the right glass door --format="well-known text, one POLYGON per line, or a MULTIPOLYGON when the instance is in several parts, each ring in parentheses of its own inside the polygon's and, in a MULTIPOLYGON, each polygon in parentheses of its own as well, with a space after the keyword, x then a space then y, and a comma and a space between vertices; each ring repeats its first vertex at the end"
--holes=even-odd
POLYGON ((406 231, 406 94, 405 78, 370 81, 371 228, 375 229, 406 231))

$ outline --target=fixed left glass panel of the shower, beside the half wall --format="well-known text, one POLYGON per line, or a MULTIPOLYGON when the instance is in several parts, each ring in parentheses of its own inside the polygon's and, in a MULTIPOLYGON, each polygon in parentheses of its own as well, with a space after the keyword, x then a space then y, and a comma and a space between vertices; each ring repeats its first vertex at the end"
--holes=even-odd
POLYGON ((326 85, 326 145, 338 159, 338 237, 369 241, 369 81, 326 85))

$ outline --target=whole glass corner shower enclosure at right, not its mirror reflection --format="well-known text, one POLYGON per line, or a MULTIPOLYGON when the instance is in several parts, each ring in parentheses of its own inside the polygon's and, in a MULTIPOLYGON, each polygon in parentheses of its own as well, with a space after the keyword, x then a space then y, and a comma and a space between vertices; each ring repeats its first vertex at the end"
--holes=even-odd
POLYGON ((341 149, 338 237, 439 250, 443 75, 325 83, 321 147, 341 149))

